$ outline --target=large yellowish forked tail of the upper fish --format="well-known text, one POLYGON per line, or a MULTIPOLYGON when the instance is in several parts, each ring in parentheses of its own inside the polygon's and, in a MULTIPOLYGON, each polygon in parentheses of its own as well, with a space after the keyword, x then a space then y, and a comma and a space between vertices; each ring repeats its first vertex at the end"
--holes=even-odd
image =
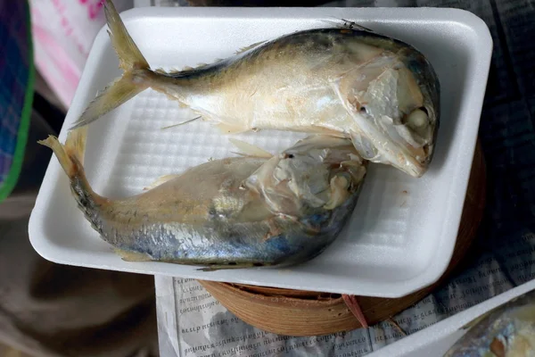
POLYGON ((98 120, 107 112, 111 112, 120 104, 128 102, 150 87, 147 81, 147 72, 152 72, 149 63, 128 34, 128 30, 110 0, 104 1, 104 14, 111 45, 119 57, 119 68, 123 71, 123 75, 96 95, 70 129, 77 129, 98 120))

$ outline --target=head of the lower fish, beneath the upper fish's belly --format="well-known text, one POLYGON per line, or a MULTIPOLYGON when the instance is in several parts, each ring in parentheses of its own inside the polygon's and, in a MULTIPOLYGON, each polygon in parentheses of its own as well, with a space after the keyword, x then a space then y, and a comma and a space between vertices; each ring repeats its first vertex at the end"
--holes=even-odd
POLYGON ((360 187, 366 162, 350 139, 312 136, 272 157, 245 185, 271 212, 302 217, 335 208, 360 187))

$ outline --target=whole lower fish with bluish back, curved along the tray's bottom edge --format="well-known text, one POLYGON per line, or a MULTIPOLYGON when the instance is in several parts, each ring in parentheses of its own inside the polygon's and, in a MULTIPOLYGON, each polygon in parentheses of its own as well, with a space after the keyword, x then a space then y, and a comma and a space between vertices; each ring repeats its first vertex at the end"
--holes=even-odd
POLYGON ((234 157, 168 176, 132 197, 96 195, 85 179, 85 142, 49 137, 78 206, 130 261, 212 268, 284 266, 323 252, 357 203, 366 162, 347 139, 309 137, 271 158, 234 157))

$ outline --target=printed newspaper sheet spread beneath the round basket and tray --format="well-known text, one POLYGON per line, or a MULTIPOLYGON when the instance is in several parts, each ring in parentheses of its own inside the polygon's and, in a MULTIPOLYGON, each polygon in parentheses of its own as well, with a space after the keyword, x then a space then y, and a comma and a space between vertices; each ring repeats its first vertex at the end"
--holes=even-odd
POLYGON ((328 6, 442 6, 475 13, 494 52, 481 115, 488 199, 471 251, 443 286, 389 322, 330 336, 277 336, 237 319, 194 280, 156 278, 161 355, 364 356, 535 277, 535 1, 353 0, 328 6))

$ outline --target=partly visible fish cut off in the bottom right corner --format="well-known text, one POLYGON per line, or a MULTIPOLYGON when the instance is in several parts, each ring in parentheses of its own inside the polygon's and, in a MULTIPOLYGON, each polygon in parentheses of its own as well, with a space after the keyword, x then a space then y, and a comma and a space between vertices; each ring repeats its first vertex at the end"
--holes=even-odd
POLYGON ((469 326, 445 357, 535 356, 535 291, 498 306, 469 326))

